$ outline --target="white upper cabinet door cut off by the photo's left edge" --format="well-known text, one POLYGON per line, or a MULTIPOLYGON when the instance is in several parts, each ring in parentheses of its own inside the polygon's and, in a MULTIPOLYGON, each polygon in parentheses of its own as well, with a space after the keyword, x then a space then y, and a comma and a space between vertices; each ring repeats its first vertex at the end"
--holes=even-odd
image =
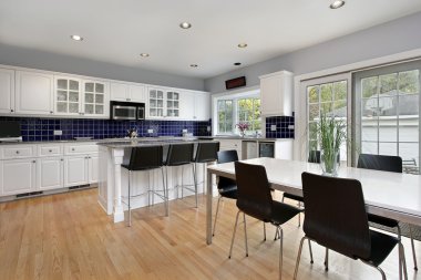
POLYGON ((14 71, 0 69, 0 113, 14 111, 14 71))

